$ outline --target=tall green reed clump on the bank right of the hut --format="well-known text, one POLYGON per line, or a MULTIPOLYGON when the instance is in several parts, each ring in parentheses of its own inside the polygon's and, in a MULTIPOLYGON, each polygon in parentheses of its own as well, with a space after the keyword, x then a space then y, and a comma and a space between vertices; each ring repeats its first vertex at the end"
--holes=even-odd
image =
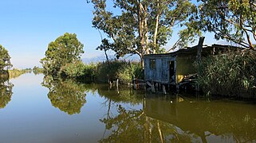
POLYGON ((227 52, 199 65, 199 85, 213 95, 256 98, 256 52, 227 52))

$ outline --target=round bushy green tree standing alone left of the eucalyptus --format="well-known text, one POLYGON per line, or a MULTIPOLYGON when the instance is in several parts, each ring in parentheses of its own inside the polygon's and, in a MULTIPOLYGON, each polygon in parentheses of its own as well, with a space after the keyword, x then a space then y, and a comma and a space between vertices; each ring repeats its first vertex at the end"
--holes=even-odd
POLYGON ((84 53, 83 48, 84 45, 77 40, 75 33, 65 33, 49 43, 45 58, 41 59, 41 64, 47 74, 57 75, 57 72, 65 64, 81 60, 81 54, 84 53))

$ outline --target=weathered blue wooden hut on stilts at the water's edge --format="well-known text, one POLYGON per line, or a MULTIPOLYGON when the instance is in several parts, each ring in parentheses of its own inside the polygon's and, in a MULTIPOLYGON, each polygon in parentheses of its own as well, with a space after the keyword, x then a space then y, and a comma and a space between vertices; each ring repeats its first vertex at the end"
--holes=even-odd
POLYGON ((147 86, 160 90, 162 87, 187 88, 188 84, 196 90, 198 89, 196 62, 200 61, 202 56, 213 56, 230 50, 238 50, 238 47, 221 44, 207 46, 199 41, 196 46, 182 48, 175 52, 145 55, 144 80, 147 86))

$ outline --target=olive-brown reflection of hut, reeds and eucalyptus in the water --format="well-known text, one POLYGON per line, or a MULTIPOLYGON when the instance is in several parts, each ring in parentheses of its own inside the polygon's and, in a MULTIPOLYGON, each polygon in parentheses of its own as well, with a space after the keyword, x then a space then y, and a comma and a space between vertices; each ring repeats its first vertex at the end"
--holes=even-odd
POLYGON ((118 104, 118 114, 100 119, 111 132, 100 142, 256 141, 254 105, 172 97, 147 95, 142 110, 118 104))

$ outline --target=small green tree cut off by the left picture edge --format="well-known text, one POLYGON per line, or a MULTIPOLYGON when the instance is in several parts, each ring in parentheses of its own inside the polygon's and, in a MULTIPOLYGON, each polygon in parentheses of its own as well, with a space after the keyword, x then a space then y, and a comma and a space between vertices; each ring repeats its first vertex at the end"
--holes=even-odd
POLYGON ((8 70, 13 65, 10 64, 10 56, 6 48, 2 47, 0 44, 0 72, 8 70))

